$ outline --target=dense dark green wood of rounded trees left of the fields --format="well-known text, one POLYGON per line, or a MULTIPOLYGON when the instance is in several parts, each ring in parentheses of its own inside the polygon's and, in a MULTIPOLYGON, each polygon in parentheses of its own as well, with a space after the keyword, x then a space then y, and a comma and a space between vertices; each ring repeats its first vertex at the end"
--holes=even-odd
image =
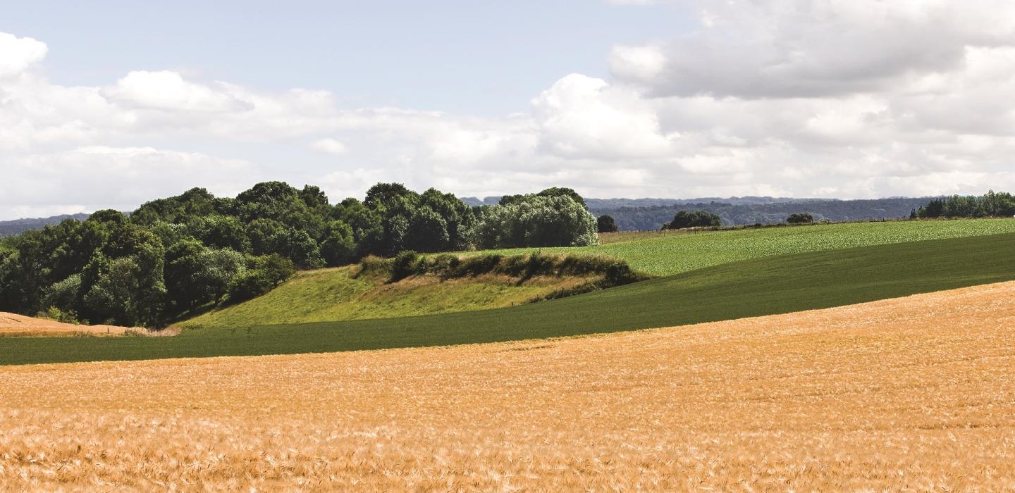
POLYGON ((332 205, 282 182, 234 198, 204 189, 101 210, 0 245, 0 310, 90 324, 163 327, 263 294, 298 269, 366 256, 595 244, 596 218, 566 188, 468 206, 453 194, 377 184, 332 205))

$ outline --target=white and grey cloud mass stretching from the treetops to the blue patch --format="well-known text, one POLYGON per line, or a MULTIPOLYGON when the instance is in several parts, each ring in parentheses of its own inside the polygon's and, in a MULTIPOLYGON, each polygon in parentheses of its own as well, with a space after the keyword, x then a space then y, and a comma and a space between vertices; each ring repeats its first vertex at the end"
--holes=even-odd
POLYGON ((615 47, 611 77, 548 81, 501 118, 173 71, 64 86, 45 77, 45 44, 0 33, 0 219, 261 180, 333 200, 378 181, 468 196, 1015 191, 1015 4, 681 3, 697 29, 615 47))

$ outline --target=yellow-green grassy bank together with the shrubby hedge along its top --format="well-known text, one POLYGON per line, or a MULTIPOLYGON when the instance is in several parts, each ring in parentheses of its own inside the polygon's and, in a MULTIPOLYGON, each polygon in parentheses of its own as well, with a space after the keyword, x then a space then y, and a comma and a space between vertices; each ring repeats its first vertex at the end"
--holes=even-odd
POLYGON ((497 257, 458 262, 451 255, 417 258, 413 275, 393 281, 395 259, 364 258, 359 266, 302 272, 264 296, 178 323, 235 328, 381 319, 489 309, 589 292, 642 279, 622 262, 578 256, 497 257), (459 268, 461 267, 461 268, 459 268), (626 272, 629 275, 615 276, 626 272))

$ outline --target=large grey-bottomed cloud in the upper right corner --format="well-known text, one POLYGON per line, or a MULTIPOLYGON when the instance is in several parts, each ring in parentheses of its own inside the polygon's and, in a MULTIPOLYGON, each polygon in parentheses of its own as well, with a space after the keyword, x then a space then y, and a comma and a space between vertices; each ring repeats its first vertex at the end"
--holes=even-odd
POLYGON ((654 95, 825 96, 961 68, 967 47, 1011 45, 1004 0, 688 2, 702 27, 662 47, 622 47, 614 73, 654 95), (642 71, 646 51, 665 65, 642 71))

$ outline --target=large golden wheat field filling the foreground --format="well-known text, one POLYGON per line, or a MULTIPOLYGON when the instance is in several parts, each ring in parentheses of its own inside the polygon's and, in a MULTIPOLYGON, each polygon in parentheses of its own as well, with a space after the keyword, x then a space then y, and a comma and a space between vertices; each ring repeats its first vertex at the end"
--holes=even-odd
POLYGON ((1015 283, 601 337, 0 368, 0 489, 1015 488, 1015 283))

